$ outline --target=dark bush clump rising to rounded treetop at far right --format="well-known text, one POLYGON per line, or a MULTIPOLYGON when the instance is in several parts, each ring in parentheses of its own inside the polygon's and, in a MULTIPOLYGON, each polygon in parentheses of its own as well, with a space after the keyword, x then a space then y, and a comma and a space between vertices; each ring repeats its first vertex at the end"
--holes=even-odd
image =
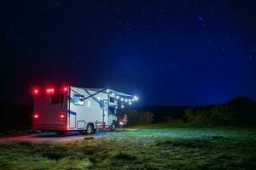
POLYGON ((183 119, 198 125, 256 125, 256 104, 252 99, 237 97, 224 105, 209 109, 188 108, 183 119))

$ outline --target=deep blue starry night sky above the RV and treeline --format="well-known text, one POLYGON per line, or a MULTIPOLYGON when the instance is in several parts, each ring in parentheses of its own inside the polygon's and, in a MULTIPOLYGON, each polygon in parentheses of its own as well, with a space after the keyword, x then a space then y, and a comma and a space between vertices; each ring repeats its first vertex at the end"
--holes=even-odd
POLYGON ((49 82, 111 88, 138 105, 256 99, 255 1, 8 1, 1 102, 49 82))

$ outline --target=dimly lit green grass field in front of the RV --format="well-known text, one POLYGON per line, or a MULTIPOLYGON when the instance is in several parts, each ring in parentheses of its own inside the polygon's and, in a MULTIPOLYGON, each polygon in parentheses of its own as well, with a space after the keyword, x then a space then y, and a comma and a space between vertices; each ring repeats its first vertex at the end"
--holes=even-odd
POLYGON ((256 130, 143 126, 63 144, 0 144, 0 169, 256 169, 256 130))

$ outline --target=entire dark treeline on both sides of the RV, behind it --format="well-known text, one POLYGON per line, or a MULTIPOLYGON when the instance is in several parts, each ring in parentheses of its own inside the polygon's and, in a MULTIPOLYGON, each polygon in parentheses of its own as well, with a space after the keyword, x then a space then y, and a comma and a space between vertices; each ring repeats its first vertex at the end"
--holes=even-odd
MULTIPOLYGON (((1 104, 0 131, 32 127, 32 106, 1 104)), ((200 126, 256 126, 256 103, 246 97, 236 97, 224 105, 150 106, 120 110, 119 120, 128 115, 128 124, 154 122, 189 122, 200 126)))

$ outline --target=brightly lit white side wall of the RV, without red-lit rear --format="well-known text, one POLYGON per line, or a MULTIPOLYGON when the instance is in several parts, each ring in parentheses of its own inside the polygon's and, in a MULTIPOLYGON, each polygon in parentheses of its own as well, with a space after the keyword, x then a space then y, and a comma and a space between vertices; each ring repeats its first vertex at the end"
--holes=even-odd
POLYGON ((117 106, 117 102, 115 101, 115 105, 109 105, 109 94, 104 91, 98 93, 101 90, 102 89, 70 88, 70 101, 67 110, 69 114, 67 121, 70 130, 84 130, 88 123, 93 123, 93 126, 96 128, 102 128, 103 122, 105 122, 105 126, 108 128, 113 122, 117 122, 117 116, 111 113, 111 111, 108 111, 109 107, 117 106), (76 95, 81 95, 85 99, 79 102, 72 101, 76 95))

